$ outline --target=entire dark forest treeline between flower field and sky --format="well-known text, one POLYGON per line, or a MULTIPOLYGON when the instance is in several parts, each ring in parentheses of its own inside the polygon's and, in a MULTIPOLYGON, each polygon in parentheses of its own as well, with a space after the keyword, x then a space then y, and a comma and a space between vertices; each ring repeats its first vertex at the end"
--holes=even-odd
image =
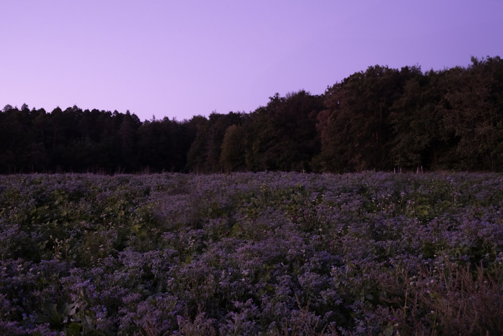
POLYGON ((503 171, 502 140, 503 60, 487 56, 441 71, 374 65, 322 95, 183 121, 6 105, 0 173, 503 171))

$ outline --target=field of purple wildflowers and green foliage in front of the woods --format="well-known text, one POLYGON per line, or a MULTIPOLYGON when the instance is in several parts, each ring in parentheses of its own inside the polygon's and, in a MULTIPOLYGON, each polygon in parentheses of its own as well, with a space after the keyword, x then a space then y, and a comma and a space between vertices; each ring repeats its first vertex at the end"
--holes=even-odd
POLYGON ((0 176, 0 334, 503 334, 503 175, 0 176))

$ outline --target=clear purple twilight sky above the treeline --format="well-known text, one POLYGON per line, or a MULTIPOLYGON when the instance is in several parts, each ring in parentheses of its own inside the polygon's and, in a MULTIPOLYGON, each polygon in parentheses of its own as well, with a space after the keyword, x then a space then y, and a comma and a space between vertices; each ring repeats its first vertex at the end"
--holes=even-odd
POLYGON ((183 120, 321 94, 375 64, 425 72, 503 57, 502 0, 13 0, 0 11, 0 109, 183 120))

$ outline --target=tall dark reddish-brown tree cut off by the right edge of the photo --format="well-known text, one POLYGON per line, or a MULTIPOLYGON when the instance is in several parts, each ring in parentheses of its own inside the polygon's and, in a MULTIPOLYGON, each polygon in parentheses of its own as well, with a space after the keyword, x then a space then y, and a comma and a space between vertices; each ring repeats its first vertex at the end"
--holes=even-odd
POLYGON ((472 57, 449 75, 444 124, 459 138, 458 168, 503 170, 503 60, 472 57))

